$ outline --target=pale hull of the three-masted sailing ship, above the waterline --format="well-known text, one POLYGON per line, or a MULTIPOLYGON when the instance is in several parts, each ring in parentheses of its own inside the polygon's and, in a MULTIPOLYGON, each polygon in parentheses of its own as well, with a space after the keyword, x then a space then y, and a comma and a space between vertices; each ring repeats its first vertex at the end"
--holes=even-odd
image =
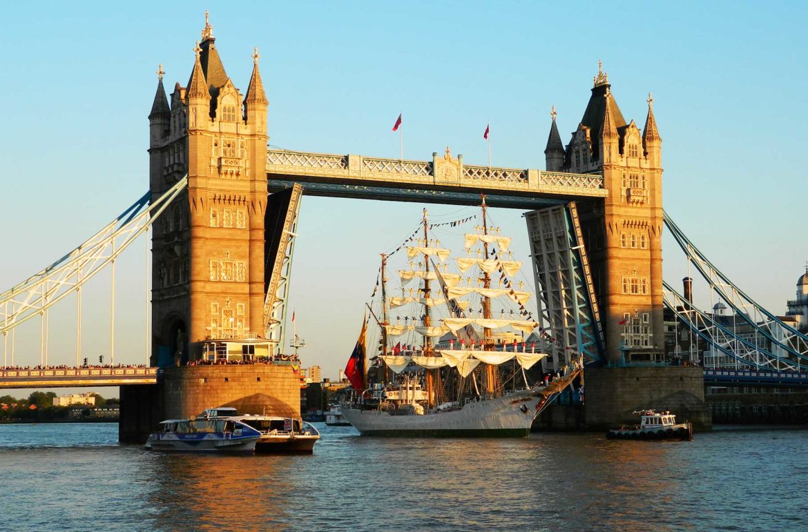
POLYGON ((526 438, 541 408, 545 387, 512 392, 495 399, 470 401, 456 410, 391 414, 343 406, 343 417, 363 436, 526 438))

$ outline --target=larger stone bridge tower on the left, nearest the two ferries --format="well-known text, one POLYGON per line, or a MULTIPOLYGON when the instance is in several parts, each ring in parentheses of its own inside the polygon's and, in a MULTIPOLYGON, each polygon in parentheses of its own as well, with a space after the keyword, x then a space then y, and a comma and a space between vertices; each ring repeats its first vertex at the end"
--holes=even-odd
POLYGON ((149 114, 153 198, 188 176, 154 225, 152 364, 172 366, 206 338, 263 334, 267 96, 257 48, 246 94, 225 72, 205 15, 191 77, 170 104, 158 69, 149 114))

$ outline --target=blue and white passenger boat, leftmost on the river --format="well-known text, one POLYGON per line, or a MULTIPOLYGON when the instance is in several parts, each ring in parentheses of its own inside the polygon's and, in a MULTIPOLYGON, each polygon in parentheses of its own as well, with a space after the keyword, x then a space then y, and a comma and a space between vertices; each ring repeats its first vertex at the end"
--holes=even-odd
POLYGON ((208 408, 193 419, 162 421, 147 450, 253 453, 261 432, 242 422, 235 408, 208 408))

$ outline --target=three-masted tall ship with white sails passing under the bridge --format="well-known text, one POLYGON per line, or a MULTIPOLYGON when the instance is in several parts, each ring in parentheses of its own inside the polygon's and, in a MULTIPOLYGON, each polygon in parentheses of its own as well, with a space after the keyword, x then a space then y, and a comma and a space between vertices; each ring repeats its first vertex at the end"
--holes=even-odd
POLYGON ((368 436, 527 437, 535 417, 583 367, 576 360, 552 380, 528 379, 546 356, 529 341, 538 327, 524 307, 532 294, 514 280, 522 263, 509 251, 511 238, 489 224, 485 196, 482 224, 464 235, 465 257, 452 258, 431 237, 438 224, 429 223, 426 209, 421 225, 396 250, 406 248, 410 266, 398 271, 401 295, 388 295, 389 255, 381 256, 381 304, 368 304, 370 317, 348 360, 356 396, 343 403, 343 417, 368 436), (457 273, 448 272, 450 262, 457 273), (380 333, 369 379, 368 322, 380 333))

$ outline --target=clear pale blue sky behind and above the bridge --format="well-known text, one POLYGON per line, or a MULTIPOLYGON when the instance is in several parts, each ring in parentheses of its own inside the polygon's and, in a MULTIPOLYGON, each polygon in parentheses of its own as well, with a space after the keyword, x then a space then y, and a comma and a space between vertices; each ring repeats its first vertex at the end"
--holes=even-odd
MULTIPOLYGON (((549 109, 569 140, 597 61, 626 119, 646 95, 663 137, 664 204, 696 245, 773 312, 808 260, 805 2, 53 2, 4 10, 0 285, 77 245, 148 186, 158 63, 184 84, 204 10, 225 68, 246 90, 254 46, 270 99, 271 145, 405 157, 446 145, 485 164, 544 168, 549 109)), ((292 306, 306 365, 335 376, 350 353, 378 253, 419 205, 306 198, 292 306)), ((430 207, 448 216, 457 207, 430 207)), ((465 212, 473 212, 466 209, 465 212)), ((520 212, 494 212, 527 254, 520 212)), ((686 266, 665 241, 665 276, 686 266)), ((142 255, 119 287, 119 360, 141 360, 142 255)), ((128 270, 127 270, 128 269, 128 270)), ((84 350, 107 350, 107 292, 85 302, 84 350)), ((73 304, 53 312, 51 360, 74 361, 73 304)), ((38 361, 19 333, 17 362, 38 361)), ((103 393, 103 392, 102 392, 103 393)))

